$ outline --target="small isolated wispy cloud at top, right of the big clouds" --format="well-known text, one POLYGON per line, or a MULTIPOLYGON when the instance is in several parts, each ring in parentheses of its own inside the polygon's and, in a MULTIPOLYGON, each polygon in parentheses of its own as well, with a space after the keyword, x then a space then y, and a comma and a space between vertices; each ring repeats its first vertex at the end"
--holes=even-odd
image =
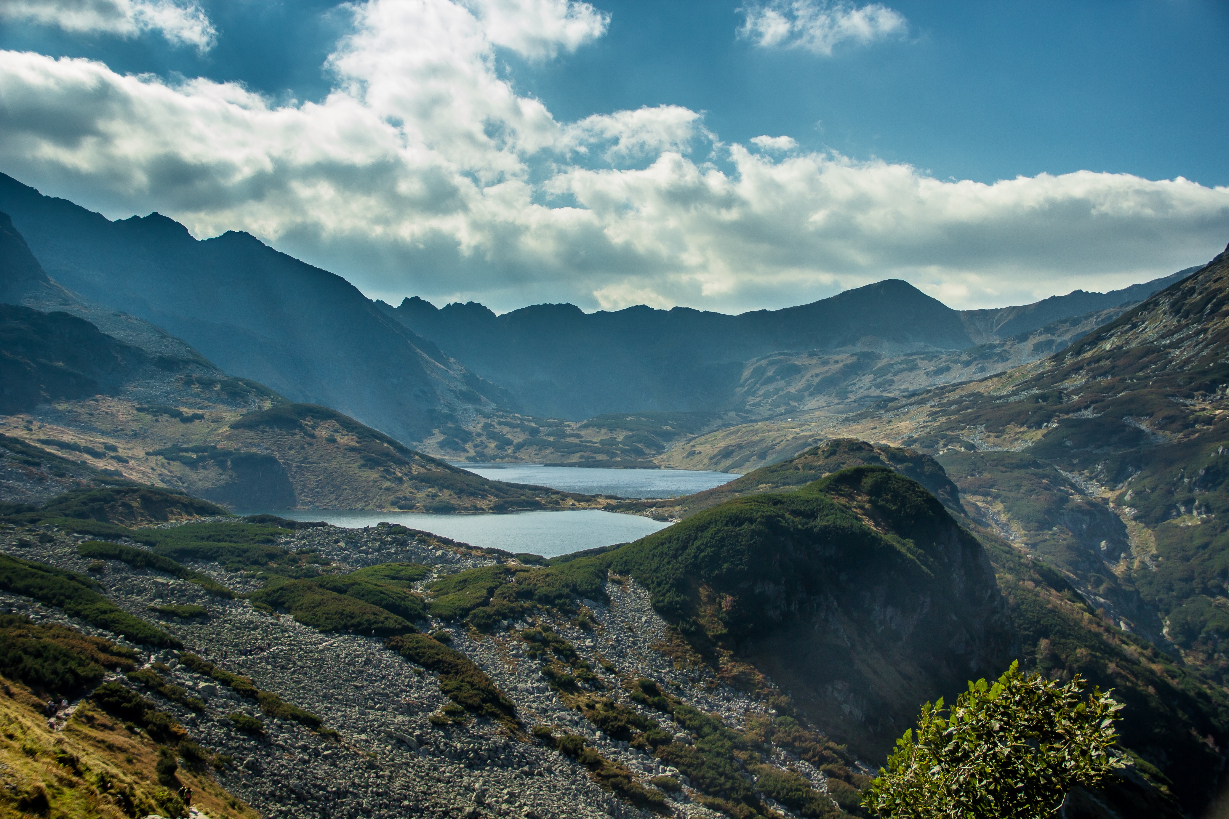
POLYGON ((763 48, 801 48, 831 56, 843 42, 857 44, 903 34, 905 16, 878 2, 855 6, 844 0, 768 0, 740 9, 739 36, 763 48))

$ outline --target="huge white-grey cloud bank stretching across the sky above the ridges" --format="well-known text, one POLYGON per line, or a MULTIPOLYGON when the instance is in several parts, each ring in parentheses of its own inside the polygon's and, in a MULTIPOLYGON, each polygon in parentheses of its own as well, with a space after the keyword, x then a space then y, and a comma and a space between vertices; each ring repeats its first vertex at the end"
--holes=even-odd
MULTIPOLYGON (((678 106, 560 123, 531 59, 600 37, 562 0, 367 0, 321 102, 0 52, 0 169, 204 237, 247 230, 376 297, 740 312, 902 278, 955 307, 1106 289, 1203 262, 1229 188, 1078 172, 993 184, 723 142, 678 106)), ((565 58, 563 58, 565 59, 565 58)))

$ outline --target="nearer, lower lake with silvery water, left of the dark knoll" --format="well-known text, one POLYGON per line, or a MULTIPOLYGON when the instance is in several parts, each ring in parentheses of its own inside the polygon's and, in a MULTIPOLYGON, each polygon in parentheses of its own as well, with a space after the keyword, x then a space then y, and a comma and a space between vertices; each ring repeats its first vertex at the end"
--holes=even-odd
POLYGON ((328 521, 333 526, 354 529, 386 521, 410 529, 441 534, 472 546, 490 546, 511 553, 527 551, 543 557, 635 540, 669 526, 638 514, 619 514, 601 510, 535 511, 512 514, 291 510, 275 511, 273 514, 294 521, 328 521))

